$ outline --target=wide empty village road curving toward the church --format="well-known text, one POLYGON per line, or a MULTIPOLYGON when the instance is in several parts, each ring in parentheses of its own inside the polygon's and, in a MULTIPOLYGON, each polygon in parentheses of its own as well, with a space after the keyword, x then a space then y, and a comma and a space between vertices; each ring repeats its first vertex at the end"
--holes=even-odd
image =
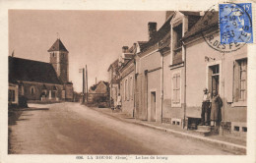
POLYGON ((32 104, 11 126, 14 154, 232 154, 123 122, 79 103, 32 104), (38 109, 40 108, 40 109, 38 109))

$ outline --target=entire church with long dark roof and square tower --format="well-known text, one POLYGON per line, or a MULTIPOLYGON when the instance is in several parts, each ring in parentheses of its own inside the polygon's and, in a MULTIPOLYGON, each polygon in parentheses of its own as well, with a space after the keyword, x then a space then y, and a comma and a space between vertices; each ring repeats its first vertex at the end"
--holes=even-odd
POLYGON ((18 103, 21 96, 37 101, 73 100, 68 50, 57 39, 48 52, 49 63, 9 56, 9 102, 18 103))

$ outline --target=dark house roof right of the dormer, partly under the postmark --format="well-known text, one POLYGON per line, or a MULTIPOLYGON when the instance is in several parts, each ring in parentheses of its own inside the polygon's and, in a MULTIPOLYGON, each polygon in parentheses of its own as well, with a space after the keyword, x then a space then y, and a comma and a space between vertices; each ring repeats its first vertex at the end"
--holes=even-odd
POLYGON ((208 17, 202 17, 193 27, 188 30, 182 39, 186 39, 190 36, 196 35, 203 30, 207 29, 208 27, 215 27, 218 26, 219 23, 219 14, 216 12, 216 14, 213 15, 213 19, 209 19, 208 17), (203 26, 204 22, 208 20, 208 26, 203 26))

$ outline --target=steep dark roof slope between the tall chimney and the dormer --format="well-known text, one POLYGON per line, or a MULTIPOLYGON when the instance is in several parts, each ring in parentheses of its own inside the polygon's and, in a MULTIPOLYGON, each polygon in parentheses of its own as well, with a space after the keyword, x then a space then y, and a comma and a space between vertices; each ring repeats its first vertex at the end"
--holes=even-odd
POLYGON ((170 20, 171 20, 172 16, 169 17, 169 19, 162 25, 162 27, 160 27, 160 29, 153 35, 153 37, 144 45, 144 48, 142 49, 142 51, 146 51, 151 46, 158 43, 164 36, 169 34, 170 20))

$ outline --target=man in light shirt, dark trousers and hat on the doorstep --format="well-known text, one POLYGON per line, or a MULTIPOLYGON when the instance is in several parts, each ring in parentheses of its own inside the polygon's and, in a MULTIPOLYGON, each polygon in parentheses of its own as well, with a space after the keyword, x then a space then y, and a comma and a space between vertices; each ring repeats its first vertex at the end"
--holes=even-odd
POLYGON ((211 95, 208 92, 207 88, 204 88, 203 102, 202 102, 202 111, 201 111, 201 123, 200 125, 209 126, 210 125, 210 114, 211 114, 211 106, 210 106, 210 98, 211 95))

